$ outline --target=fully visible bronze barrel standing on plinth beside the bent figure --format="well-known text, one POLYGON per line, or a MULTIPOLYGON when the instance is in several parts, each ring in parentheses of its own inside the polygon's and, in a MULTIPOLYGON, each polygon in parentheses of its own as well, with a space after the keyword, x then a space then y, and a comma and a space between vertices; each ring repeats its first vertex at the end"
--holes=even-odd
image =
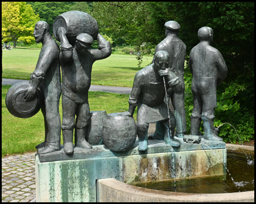
POLYGON ((103 124, 103 143, 112 151, 128 151, 136 140, 136 122, 133 117, 110 113, 103 124))

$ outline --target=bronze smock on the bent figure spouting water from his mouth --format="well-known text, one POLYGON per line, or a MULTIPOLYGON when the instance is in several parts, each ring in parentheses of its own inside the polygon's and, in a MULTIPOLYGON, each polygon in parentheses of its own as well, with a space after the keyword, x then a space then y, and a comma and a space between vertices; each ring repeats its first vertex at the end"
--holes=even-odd
MULTIPOLYGON (((171 87, 166 81, 166 90, 171 87)), ((168 119, 166 91, 163 77, 149 65, 138 71, 134 77, 129 104, 138 104, 137 121, 156 122, 168 119)))

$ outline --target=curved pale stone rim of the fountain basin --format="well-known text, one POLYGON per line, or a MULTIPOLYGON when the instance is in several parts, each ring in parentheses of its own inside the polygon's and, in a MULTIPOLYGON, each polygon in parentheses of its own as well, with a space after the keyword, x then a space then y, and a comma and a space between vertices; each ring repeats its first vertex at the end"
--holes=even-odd
MULTIPOLYGON (((226 144, 228 151, 254 155, 254 147, 226 144)), ((98 202, 254 202, 254 190, 239 193, 175 193, 146 189, 115 179, 97 181, 98 202)))

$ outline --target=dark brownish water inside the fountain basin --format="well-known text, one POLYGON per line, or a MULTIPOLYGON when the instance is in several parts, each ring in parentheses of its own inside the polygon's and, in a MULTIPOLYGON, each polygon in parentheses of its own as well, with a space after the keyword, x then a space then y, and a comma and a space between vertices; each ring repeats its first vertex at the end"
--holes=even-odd
POLYGON ((254 155, 228 152, 227 164, 229 173, 226 176, 149 182, 136 186, 180 193, 235 193, 254 190, 254 155))

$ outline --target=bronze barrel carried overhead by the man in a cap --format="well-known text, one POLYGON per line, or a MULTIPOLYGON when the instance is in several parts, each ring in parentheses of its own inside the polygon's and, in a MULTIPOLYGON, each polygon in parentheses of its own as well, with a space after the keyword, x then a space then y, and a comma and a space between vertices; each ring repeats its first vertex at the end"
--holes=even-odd
POLYGON ((63 27, 66 30, 66 36, 69 43, 75 44, 76 37, 81 33, 87 33, 97 40, 98 23, 86 12, 68 11, 56 17, 53 22, 53 35, 57 41, 60 41, 56 36, 57 29, 63 27))

